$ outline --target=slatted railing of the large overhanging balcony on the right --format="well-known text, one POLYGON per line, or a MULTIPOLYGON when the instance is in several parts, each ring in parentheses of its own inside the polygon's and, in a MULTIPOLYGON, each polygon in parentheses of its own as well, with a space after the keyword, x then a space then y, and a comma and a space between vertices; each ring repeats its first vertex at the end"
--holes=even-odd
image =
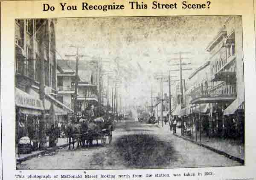
POLYGON ((191 91, 191 98, 236 96, 236 85, 220 84, 217 86, 198 87, 191 91))

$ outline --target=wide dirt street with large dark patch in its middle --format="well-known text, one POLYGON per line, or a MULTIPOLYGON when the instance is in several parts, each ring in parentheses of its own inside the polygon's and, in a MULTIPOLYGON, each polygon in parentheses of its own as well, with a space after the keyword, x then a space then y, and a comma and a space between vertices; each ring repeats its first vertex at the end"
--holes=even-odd
POLYGON ((52 156, 34 157, 17 169, 132 169, 205 166, 236 166, 240 163, 183 140, 168 125, 157 127, 139 122, 119 122, 111 144, 105 147, 59 149, 52 156))

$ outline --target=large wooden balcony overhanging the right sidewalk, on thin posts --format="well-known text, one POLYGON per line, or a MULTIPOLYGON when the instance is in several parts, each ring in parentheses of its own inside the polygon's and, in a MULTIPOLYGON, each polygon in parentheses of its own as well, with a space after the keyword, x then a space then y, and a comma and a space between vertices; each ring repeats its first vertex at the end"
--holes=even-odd
POLYGON ((236 99, 236 85, 198 87, 191 91, 191 104, 229 102, 236 99))

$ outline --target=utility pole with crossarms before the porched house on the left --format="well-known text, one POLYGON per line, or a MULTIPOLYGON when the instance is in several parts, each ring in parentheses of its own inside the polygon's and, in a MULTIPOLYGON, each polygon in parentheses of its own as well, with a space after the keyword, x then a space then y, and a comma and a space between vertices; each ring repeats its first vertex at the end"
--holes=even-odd
POLYGON ((78 112, 78 104, 77 104, 77 91, 78 91, 78 81, 79 81, 79 77, 78 77, 78 61, 79 61, 79 57, 86 57, 86 55, 79 55, 79 46, 70 46, 73 48, 76 48, 76 55, 68 55, 66 54, 65 56, 67 57, 76 57, 76 74, 75 74, 75 94, 74 94, 74 100, 73 100, 73 107, 74 107, 74 111, 78 112))

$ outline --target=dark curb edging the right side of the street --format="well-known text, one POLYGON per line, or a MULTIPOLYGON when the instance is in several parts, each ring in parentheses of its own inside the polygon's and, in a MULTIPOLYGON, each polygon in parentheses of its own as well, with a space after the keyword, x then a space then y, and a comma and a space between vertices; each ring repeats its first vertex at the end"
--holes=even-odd
POLYGON ((224 151, 221 151, 221 150, 212 148, 212 147, 207 146, 207 145, 205 145, 205 144, 203 144, 203 143, 199 143, 199 142, 196 142, 196 141, 191 140, 191 139, 186 139, 185 137, 182 137, 182 136, 180 136, 180 135, 177 135, 177 134, 173 134, 173 135, 175 135, 175 136, 177 136, 177 137, 180 137, 180 138, 182 138, 183 140, 188 140, 188 141, 190 141, 190 142, 192 142, 192 143, 195 143, 195 144, 197 144, 198 146, 202 146, 202 147, 207 148, 207 149, 209 149, 209 150, 211 150, 211 151, 217 152, 218 154, 224 155, 224 156, 228 157, 228 158, 231 159, 231 160, 235 160, 235 161, 238 161, 238 162, 241 163, 241 164, 244 164, 244 160, 241 159, 241 158, 239 158, 239 157, 236 157, 236 156, 233 156, 233 155, 231 155, 231 154, 228 154, 228 153, 226 153, 226 152, 224 152, 224 151))

